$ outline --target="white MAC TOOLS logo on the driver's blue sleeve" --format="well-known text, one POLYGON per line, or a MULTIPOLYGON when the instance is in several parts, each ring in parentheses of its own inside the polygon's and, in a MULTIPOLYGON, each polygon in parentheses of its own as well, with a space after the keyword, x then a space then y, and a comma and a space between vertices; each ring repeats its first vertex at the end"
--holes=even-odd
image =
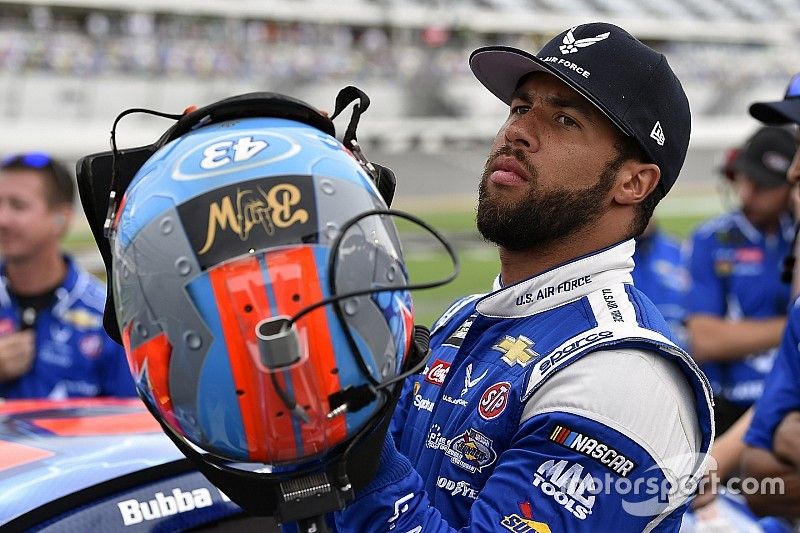
POLYGON ((584 474, 583 466, 577 463, 545 461, 533 474, 533 486, 539 487, 579 520, 592 514, 596 481, 588 472, 584 474))

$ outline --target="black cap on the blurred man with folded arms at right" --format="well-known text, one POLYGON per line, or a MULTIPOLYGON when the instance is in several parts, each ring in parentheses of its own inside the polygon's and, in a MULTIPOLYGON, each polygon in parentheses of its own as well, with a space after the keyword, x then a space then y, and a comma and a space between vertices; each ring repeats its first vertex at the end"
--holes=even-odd
POLYGON ((732 167, 763 187, 788 186, 786 171, 794 150, 794 135, 789 130, 763 126, 745 141, 732 167))

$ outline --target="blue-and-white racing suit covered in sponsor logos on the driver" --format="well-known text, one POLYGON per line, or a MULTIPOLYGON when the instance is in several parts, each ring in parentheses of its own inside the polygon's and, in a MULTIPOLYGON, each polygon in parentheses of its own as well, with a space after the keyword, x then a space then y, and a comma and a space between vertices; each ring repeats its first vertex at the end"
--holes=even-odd
POLYGON ((631 285, 634 246, 456 302, 338 530, 677 530, 711 391, 631 285))

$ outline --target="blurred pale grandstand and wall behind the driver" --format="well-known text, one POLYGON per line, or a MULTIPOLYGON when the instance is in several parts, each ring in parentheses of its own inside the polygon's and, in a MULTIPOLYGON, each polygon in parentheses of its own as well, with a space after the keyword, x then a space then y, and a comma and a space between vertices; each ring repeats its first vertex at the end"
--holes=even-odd
MULTIPOLYGON (((707 184, 755 127, 747 105, 780 97, 800 71, 800 0, 0 1, 0 152, 75 160, 106 149, 128 107, 180 112, 269 90, 331 108, 356 84, 373 100, 360 138, 398 170, 399 198, 472 195, 505 111, 469 73, 469 51, 535 50, 591 20, 663 51, 683 81, 694 116, 683 187, 707 184)), ((125 119, 119 142, 167 125, 125 119)))

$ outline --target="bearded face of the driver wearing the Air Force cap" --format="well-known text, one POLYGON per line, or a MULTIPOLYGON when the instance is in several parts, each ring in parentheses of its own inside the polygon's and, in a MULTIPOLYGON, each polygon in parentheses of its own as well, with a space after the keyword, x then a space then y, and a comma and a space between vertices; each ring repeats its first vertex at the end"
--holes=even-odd
POLYGON ((478 197, 478 230, 508 250, 574 234, 608 209, 616 181, 616 127, 545 73, 517 89, 495 137, 478 197))

